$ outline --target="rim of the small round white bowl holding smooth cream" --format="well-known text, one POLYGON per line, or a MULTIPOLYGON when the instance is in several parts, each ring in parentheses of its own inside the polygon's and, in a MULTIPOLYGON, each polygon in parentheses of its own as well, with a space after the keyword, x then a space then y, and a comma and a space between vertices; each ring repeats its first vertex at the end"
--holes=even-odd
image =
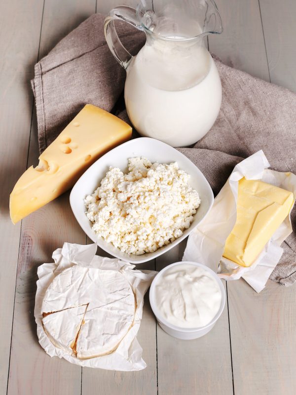
POLYGON ((203 265, 202 263, 199 263, 199 262, 180 261, 180 262, 175 262, 175 263, 172 263, 172 264, 166 266, 160 272, 158 272, 157 275, 153 278, 152 283, 150 285, 150 290, 149 290, 149 302, 150 302, 150 306, 151 306, 151 309, 152 309, 152 312, 153 312, 154 316, 163 325, 167 326, 170 329, 176 330, 178 332, 192 333, 192 332, 203 331, 203 330, 207 329, 209 326, 213 326, 215 324, 215 322, 220 318, 220 316, 223 313, 223 310, 224 310, 224 307, 225 307, 225 302, 226 302, 226 294, 225 294, 225 289, 224 289, 224 286, 223 286, 221 278, 211 268, 209 268, 208 266, 203 265), (220 286, 220 289, 221 289, 221 304, 220 304, 220 308, 219 308, 217 314, 214 316, 214 318, 207 325, 199 326, 199 327, 195 327, 195 328, 183 328, 183 327, 174 325, 174 324, 170 323, 168 320, 166 320, 162 316, 162 314, 160 313, 160 311, 159 311, 159 309, 158 309, 158 307, 157 307, 157 305, 155 303, 154 297, 155 297, 155 286, 156 286, 157 280, 168 269, 172 268, 173 266, 178 266, 178 265, 182 265, 182 264, 194 265, 194 266, 198 266, 198 267, 201 267, 201 268, 205 269, 207 272, 209 272, 216 279, 216 281, 218 282, 218 284, 220 286))

